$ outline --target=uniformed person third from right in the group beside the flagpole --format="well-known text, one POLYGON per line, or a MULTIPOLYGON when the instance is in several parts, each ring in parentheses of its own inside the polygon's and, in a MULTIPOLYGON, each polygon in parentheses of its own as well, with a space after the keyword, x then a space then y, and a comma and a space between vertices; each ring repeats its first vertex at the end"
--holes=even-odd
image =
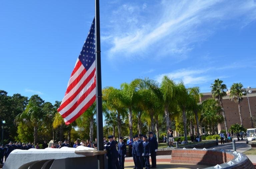
POLYGON ((142 141, 139 141, 139 136, 135 136, 136 143, 135 143, 135 150, 136 150, 136 166, 137 169, 143 169, 143 144, 142 141))

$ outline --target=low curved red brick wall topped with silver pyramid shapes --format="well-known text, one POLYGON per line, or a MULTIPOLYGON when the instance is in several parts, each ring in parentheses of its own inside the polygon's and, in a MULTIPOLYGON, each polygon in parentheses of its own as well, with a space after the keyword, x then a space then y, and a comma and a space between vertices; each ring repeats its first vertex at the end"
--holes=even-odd
POLYGON ((243 153, 207 149, 173 149, 171 163, 208 166, 219 164, 222 169, 255 169, 252 162, 243 153))

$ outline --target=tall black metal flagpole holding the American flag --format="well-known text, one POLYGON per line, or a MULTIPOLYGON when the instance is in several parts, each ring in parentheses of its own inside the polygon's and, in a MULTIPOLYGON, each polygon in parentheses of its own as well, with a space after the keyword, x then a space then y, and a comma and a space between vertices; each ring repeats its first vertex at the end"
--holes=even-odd
MULTIPOLYGON (((103 149, 103 117, 101 90, 101 56, 100 56, 100 3, 95 0, 95 51, 96 51, 96 114, 97 114, 97 149, 103 149)), ((98 155, 98 169, 104 169, 104 154, 98 155)))

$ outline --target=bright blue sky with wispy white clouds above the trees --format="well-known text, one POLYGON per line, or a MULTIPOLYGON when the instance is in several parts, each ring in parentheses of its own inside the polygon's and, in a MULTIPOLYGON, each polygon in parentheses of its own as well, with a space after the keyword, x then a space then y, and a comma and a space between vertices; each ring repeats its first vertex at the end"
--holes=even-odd
MULTIPOLYGON (((93 0, 1 1, 0 90, 64 97, 92 23, 93 0)), ((256 1, 100 1, 102 87, 164 75, 210 92, 256 87, 256 1)))

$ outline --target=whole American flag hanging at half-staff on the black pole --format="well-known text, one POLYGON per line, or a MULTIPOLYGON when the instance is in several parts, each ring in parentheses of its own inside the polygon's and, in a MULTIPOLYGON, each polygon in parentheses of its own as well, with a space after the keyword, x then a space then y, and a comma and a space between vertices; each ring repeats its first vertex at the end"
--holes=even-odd
POLYGON ((81 116, 96 99, 95 19, 70 76, 58 112, 66 125, 81 116))

